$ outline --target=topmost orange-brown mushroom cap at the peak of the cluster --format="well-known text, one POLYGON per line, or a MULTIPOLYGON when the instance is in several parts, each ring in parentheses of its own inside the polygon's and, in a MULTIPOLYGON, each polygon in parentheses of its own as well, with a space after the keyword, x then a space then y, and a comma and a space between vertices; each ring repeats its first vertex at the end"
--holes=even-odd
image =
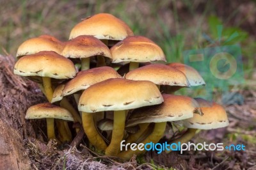
POLYGON ((100 40, 124 40, 133 33, 124 21, 109 13, 99 13, 74 26, 69 39, 79 35, 92 35, 100 40))

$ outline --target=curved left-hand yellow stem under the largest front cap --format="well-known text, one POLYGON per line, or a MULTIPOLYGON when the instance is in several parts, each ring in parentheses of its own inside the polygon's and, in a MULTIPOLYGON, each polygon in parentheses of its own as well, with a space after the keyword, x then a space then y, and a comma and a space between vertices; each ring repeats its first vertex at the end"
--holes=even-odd
POLYGON ((90 143, 98 150, 106 150, 107 145, 94 125, 93 114, 82 112, 82 120, 84 133, 87 135, 90 143))

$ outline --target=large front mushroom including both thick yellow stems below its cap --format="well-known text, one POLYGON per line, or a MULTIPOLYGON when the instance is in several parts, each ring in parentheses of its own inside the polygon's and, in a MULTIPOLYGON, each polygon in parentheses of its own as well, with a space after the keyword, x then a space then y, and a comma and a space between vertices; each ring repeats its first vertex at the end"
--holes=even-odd
POLYGON ((163 98, 159 89, 150 81, 108 79, 84 90, 78 109, 83 112, 84 132, 90 142, 97 148, 106 149, 106 155, 117 155, 120 151, 118 146, 124 137, 125 110, 161 102, 163 98), (113 134, 108 148, 92 123, 92 113, 100 111, 114 111, 113 134))

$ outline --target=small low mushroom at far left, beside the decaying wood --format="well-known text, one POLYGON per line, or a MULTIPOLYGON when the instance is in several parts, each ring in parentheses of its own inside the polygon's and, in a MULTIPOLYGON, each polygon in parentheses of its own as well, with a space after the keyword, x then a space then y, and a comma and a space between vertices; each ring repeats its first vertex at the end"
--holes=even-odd
MULTIPOLYGON (((47 137, 48 139, 56 139, 54 133, 54 119, 74 121, 72 114, 60 106, 51 103, 36 104, 29 107, 25 118, 28 119, 43 119, 47 122, 47 137)), ((65 138, 67 139, 67 138, 65 138)))

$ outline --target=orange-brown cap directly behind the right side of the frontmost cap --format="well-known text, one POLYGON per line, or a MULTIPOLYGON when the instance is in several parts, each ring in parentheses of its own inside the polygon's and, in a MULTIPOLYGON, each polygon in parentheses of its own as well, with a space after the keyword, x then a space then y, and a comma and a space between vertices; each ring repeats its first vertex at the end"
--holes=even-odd
POLYGON ((152 81, 158 85, 189 86, 184 73, 163 64, 141 66, 125 75, 125 79, 133 81, 152 81))

